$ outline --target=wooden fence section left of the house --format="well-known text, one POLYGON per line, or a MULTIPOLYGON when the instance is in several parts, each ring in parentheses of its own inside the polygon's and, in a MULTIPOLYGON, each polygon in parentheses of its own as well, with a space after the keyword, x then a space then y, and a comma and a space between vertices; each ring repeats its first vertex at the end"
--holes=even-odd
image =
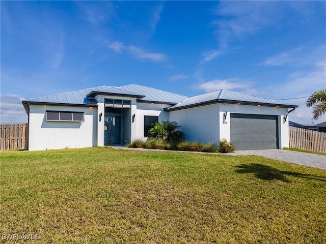
POLYGON ((0 126, 1 151, 28 148, 28 124, 2 124, 0 126))

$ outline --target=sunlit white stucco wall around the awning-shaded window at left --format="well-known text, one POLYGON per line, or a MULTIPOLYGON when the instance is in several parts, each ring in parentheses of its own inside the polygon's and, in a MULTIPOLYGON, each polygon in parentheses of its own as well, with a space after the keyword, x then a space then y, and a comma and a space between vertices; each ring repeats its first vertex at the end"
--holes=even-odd
POLYGON ((29 150, 97 145, 97 108, 30 105, 29 150), (46 110, 84 112, 83 122, 46 121, 46 110))

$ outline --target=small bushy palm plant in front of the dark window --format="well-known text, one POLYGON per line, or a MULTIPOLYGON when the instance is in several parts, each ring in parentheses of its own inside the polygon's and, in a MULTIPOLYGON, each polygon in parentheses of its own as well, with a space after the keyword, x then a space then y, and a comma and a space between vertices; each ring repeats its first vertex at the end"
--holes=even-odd
POLYGON ((184 137, 184 134, 179 130, 180 127, 175 121, 155 122, 154 127, 148 130, 148 136, 168 143, 178 143, 184 137))

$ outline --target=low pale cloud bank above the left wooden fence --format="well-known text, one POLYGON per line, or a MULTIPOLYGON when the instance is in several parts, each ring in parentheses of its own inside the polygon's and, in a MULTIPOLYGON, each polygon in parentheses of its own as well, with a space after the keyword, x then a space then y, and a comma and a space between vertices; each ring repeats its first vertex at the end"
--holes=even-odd
POLYGON ((28 116, 18 95, 0 95, 0 123, 27 123, 28 116))

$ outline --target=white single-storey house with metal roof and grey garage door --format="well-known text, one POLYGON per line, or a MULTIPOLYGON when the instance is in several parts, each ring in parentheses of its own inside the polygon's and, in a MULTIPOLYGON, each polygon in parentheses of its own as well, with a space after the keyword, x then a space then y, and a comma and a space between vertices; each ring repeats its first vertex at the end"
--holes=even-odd
POLYGON ((186 140, 236 149, 289 146, 288 114, 297 106, 230 90, 186 97, 147 86, 97 86, 22 101, 29 150, 123 145, 147 139, 155 121, 181 125, 186 140), (289 109, 291 109, 289 111, 289 109))

